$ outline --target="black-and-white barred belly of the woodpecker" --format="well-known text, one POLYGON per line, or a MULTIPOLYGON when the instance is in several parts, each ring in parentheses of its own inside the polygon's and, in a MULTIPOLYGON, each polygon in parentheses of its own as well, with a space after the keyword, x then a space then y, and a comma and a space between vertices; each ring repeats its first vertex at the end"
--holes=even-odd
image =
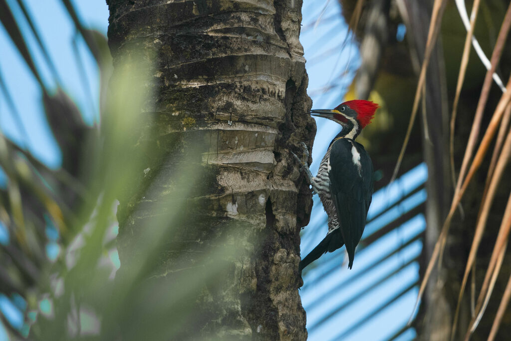
POLYGON ((319 195, 319 199, 323 204, 323 209, 328 215, 328 233, 339 228, 337 211, 335 210, 334 201, 332 200, 332 195, 330 193, 330 150, 331 147, 323 156, 323 160, 321 160, 318 174, 312 178, 312 187, 319 195))

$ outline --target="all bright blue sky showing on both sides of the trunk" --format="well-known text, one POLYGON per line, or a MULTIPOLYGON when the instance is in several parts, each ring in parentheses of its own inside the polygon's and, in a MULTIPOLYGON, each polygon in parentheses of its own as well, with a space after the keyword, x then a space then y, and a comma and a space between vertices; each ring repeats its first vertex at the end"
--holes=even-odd
MULTIPOLYGON (((20 17, 21 12, 16 5, 16 1, 8 0, 8 3, 15 15, 20 17)), ((106 35, 108 8, 105 0, 74 0, 73 3, 86 26, 106 35)), ((43 43, 48 47, 49 54, 55 61, 62 87, 79 105, 84 113, 84 121, 88 124, 94 124, 98 120, 98 69, 92 56, 85 48, 84 42, 75 38, 74 26, 65 14, 61 1, 25 0, 25 4, 35 21, 36 27, 41 32, 43 43), (78 56, 73 49, 74 44, 76 44, 78 56), (85 84, 80 76, 78 65, 82 65, 87 75, 85 84)), ((308 60, 306 65, 309 74, 308 92, 313 99, 314 108, 335 107, 342 102, 346 87, 350 85, 353 79, 353 70, 356 69, 359 62, 356 43, 352 39, 345 41, 347 26, 341 20, 340 11, 341 9, 336 1, 305 0, 303 5, 303 31, 300 39, 308 60), (322 5, 319 6, 319 4, 322 5), (327 6, 324 6, 325 4, 327 6), (345 42, 344 46, 343 42, 345 42), (343 46, 342 49, 341 46, 343 46), (324 91, 324 88, 334 85, 335 87, 332 90, 324 91)), ((22 30, 30 43, 31 51, 34 53, 33 57, 39 72, 42 74, 44 83, 51 89, 56 89, 58 81, 52 76, 48 65, 45 64, 28 25, 23 24, 22 30)), ((2 47, 0 74, 10 91, 23 128, 20 129, 16 125, 15 112, 7 105, 4 95, 1 93, 0 127, 4 134, 19 145, 28 148, 42 162, 52 168, 58 168, 61 163, 61 156, 44 118, 40 89, 1 26, 0 46, 2 47)), ((328 124, 326 120, 317 119, 317 124, 317 138, 312 151, 313 164, 311 165, 311 171, 313 173, 317 172, 322 154, 338 132, 338 126, 328 124)), ((426 176, 427 171, 425 172, 424 167, 417 168, 414 173, 409 173, 407 178, 397 181, 388 191, 375 194, 369 216, 371 214, 376 215, 378 210, 382 211, 386 208, 386 205, 389 204, 389 198, 397 201, 411 191, 410 187, 420 186, 426 176)), ((307 238, 304 237, 301 245, 304 255, 326 234, 324 212, 317 197, 314 200, 315 207, 311 223, 304 233, 304 236, 307 234, 307 238)), ((412 201, 409 205, 414 207, 425 200, 425 193, 423 192, 423 194, 410 200, 412 201)), ((389 219, 395 219, 406 209, 406 207, 400 207, 398 208, 399 212, 390 212, 389 214, 393 214, 393 216, 389 219)), ((378 221, 375 220, 373 225, 367 226, 366 234, 379 227, 381 227, 381 224, 378 224, 378 221)), ((370 248, 364 249, 363 252, 361 251, 357 255, 358 269, 354 267, 353 270, 349 271, 344 267, 341 268, 343 249, 334 254, 323 256, 326 257, 327 261, 324 262, 323 267, 318 267, 309 272, 304 279, 306 286, 300 291, 304 307, 308 312, 308 327, 317 325, 313 330, 309 330, 309 339, 313 341, 335 339, 336 335, 350 328, 350 321, 356 321, 359 317, 363 318, 364 313, 370 310, 371 306, 374 306, 377 302, 384 302, 385 298, 398 290, 400 285, 406 286, 408 283, 416 281, 418 276, 417 266, 411 264, 382 283, 380 289, 371 292, 370 295, 353 304, 350 309, 334 314, 329 321, 318 324, 325 313, 335 309, 347 298, 360 294, 357 293, 357 286, 375 285, 375 281, 378 282, 378 279, 384 274, 398 268, 410 257, 415 257, 420 252, 422 245, 420 242, 410 244, 408 248, 403 250, 402 254, 388 259, 370 276, 356 281, 353 280, 353 284, 356 284, 356 286, 342 288, 335 295, 332 295, 328 302, 324 302, 324 304, 320 302, 318 308, 317 300, 321 297, 321 293, 332 288, 335 289, 338 283, 346 281, 349 283, 350 278, 357 276, 357 271, 361 271, 366 264, 370 264, 375 258, 382 257, 388 252, 389 247, 403 244, 424 228, 423 216, 417 216, 410 222, 403 224, 400 229, 396 230, 395 234, 386 236, 386 239, 374 243, 370 248), (307 286, 307 283, 311 283, 315 277, 324 277, 324 279, 314 286, 307 286), (314 308, 314 303, 316 303, 316 308, 314 308), (349 315, 346 312, 349 312, 349 315)), ((403 321, 408 319, 415 296, 416 290, 410 290, 393 305, 383 309, 383 313, 364 325, 364 328, 360 328, 351 334, 349 339, 377 340, 391 335, 403 325, 403 321), (382 332, 382 329, 387 332, 382 332)), ((7 301, 9 301, 7 298, 0 297, 0 306, 3 305, 5 309, 11 309, 12 307, 9 306, 7 301)), ((407 331, 400 339, 413 339, 413 337, 414 332, 407 331)), ((2 329, 0 328, 0 340, 2 339, 2 329)))

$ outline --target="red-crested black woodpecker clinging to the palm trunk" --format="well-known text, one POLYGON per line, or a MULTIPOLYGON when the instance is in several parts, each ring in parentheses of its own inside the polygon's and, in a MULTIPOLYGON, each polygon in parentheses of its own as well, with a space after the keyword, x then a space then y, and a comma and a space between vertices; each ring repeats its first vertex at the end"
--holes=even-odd
POLYGON ((299 264, 299 271, 327 252, 346 245, 348 267, 353 266, 355 247, 364 232, 367 211, 373 196, 373 163, 364 147, 355 142, 360 131, 371 122, 379 105, 371 101, 352 100, 335 109, 311 110, 316 117, 327 118, 342 126, 341 132, 330 142, 312 176, 307 167, 309 152, 305 143, 300 171, 306 174, 313 194, 317 193, 328 215, 327 236, 299 264))

